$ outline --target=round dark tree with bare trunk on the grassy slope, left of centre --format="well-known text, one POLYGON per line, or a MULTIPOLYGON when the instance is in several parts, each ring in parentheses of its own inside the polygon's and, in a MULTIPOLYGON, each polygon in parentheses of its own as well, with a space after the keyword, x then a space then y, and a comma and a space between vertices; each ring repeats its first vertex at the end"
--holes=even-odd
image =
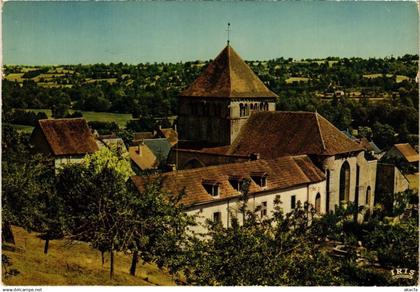
POLYGON ((57 190, 66 206, 64 224, 71 239, 88 241, 110 254, 110 278, 116 251, 127 250, 134 230, 133 200, 125 177, 105 165, 68 165, 58 176, 57 190))

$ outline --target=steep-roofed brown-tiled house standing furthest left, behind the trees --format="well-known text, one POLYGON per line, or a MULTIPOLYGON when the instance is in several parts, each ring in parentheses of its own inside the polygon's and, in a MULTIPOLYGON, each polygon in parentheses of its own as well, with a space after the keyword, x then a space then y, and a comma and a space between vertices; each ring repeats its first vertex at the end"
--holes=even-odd
POLYGON ((99 149, 83 118, 39 120, 30 143, 34 152, 54 158, 56 170, 65 164, 79 163, 86 154, 99 149))

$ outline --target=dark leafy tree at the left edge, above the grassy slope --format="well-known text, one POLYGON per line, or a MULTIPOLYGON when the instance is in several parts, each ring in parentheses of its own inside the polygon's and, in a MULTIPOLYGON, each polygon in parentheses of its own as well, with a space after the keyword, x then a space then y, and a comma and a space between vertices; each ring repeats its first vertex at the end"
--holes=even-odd
MULTIPOLYGON (((9 235, 5 240, 13 242, 12 224, 28 231, 45 231, 49 234, 45 235, 46 240, 58 236, 52 235, 52 222, 57 217, 52 218, 49 211, 55 206, 53 177, 52 162, 42 155, 25 162, 2 162, 2 229, 3 234, 9 235), (47 223, 47 218, 51 222, 47 223)), ((47 246, 48 243, 46 250, 47 246)))

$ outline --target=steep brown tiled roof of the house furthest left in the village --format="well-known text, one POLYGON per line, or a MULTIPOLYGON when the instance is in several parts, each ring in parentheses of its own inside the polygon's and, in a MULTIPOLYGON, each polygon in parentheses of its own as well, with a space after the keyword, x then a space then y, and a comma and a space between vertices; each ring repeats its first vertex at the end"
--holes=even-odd
POLYGON ((85 119, 39 120, 38 126, 54 155, 82 155, 98 150, 85 119))

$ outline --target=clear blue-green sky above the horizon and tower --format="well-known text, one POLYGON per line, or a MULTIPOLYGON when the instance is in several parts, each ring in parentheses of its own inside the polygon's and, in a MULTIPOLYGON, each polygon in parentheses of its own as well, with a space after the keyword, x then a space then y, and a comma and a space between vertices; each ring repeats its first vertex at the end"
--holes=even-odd
POLYGON ((4 64, 177 62, 231 44, 247 60, 417 53, 415 2, 4 3, 4 64))

